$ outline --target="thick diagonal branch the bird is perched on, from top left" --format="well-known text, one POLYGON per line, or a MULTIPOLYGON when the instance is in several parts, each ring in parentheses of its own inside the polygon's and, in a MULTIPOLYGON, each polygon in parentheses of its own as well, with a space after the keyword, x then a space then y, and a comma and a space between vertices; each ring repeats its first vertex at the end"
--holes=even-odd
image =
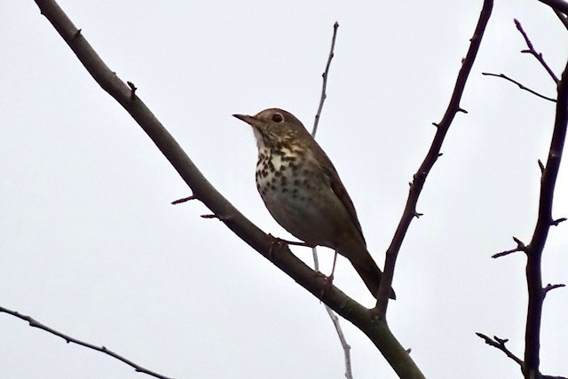
POLYGON ((390 333, 386 322, 377 320, 371 310, 355 302, 335 286, 329 286, 324 278, 317 275, 310 267, 304 265, 300 259, 294 256, 286 245, 276 244, 277 249, 273 249, 274 239, 263 233, 256 225, 253 225, 211 186, 142 100, 99 58, 96 51, 92 49, 80 31, 75 28, 75 25, 67 18, 58 4, 52 0, 36 0, 36 4, 71 50, 75 52, 77 58, 95 81, 126 109, 148 137, 154 141, 154 144, 170 161, 180 177, 191 187, 195 199, 202 201, 209 207, 219 220, 224 222, 233 233, 237 234, 253 249, 270 259, 274 265, 286 272, 289 277, 296 280, 312 295, 320 298, 344 319, 351 321, 363 331, 383 353, 398 376, 404 378, 423 377, 408 352, 390 333), (326 288, 325 291, 324 288, 326 288))

